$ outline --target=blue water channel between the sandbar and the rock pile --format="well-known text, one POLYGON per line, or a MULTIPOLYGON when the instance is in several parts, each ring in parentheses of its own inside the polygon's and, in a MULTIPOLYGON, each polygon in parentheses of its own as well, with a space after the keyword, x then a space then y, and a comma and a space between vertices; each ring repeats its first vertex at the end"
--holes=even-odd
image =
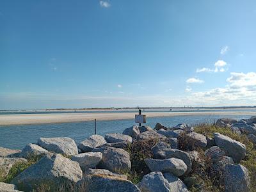
MULTIPOLYGON (((164 116, 147 118, 147 124, 154 128, 157 122, 166 126, 181 123, 196 125, 204 122, 214 122, 218 118, 250 118, 248 115, 191 115, 191 116, 164 116)), ((102 120, 97 121, 97 134, 104 136, 110 132, 124 131, 134 125, 134 120, 102 120)), ((79 142, 94 134, 94 122, 72 122, 61 124, 38 125, 8 125, 0 126, 0 147, 22 149, 28 143, 36 143, 40 137, 69 137, 79 142)))

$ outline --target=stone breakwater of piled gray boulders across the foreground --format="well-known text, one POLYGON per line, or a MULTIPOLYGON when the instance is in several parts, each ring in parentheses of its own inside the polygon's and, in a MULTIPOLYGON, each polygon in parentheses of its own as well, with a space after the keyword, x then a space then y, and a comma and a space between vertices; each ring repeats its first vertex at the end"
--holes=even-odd
MULTIPOLYGON (((244 134, 256 144, 255 116, 239 121, 222 118, 216 125, 237 135, 244 134)), ((209 138, 186 124, 167 127, 157 123, 154 129, 133 125, 123 134, 110 133, 104 137, 95 134, 77 144, 66 137, 39 138, 22 150, 0 148, 2 180, 17 164, 40 157, 9 183, 0 182, 0 191, 33 191, 45 183, 72 184, 70 191, 189 191, 195 180, 186 175, 192 172, 194 163, 200 164, 202 154, 198 149, 211 159, 212 170, 217 170, 214 173, 221 173, 225 191, 250 191, 248 170, 240 164, 246 158, 246 146, 219 132, 209 138), (180 137, 186 138, 184 143, 190 150, 180 147, 180 137), (132 152, 126 149, 136 141, 147 140, 157 140, 151 148, 153 156, 142 159, 149 172, 134 184, 127 179, 132 152)))

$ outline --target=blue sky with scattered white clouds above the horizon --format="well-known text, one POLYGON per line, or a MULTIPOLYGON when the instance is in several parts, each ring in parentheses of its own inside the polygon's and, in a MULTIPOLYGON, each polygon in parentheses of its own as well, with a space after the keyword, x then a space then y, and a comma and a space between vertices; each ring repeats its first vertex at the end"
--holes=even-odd
POLYGON ((256 2, 0 1, 0 109, 256 105, 256 2))

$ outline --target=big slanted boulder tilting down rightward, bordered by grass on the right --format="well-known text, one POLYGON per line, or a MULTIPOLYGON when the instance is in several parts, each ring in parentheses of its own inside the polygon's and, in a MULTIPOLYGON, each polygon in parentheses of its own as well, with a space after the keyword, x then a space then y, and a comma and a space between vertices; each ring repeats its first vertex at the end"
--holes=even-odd
POLYGON ((220 134, 219 132, 214 132, 214 140, 216 145, 224 150, 228 156, 232 157, 235 162, 239 162, 241 159, 244 159, 246 147, 243 143, 232 140, 228 136, 220 134))

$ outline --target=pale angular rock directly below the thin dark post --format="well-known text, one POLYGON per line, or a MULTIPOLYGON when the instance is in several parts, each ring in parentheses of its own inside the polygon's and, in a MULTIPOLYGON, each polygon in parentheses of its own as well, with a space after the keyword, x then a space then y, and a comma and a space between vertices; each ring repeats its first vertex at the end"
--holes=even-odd
POLYGON ((102 147, 102 145, 106 144, 107 141, 104 139, 104 137, 100 136, 99 134, 93 134, 86 140, 82 141, 78 148, 81 150, 81 152, 90 152, 93 150, 93 148, 102 147))

